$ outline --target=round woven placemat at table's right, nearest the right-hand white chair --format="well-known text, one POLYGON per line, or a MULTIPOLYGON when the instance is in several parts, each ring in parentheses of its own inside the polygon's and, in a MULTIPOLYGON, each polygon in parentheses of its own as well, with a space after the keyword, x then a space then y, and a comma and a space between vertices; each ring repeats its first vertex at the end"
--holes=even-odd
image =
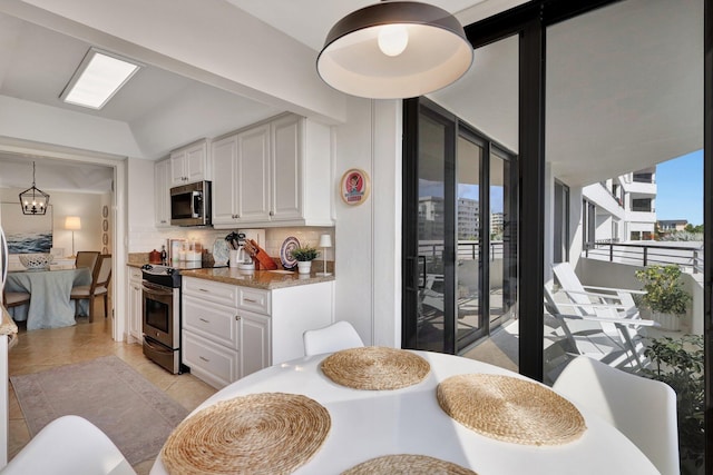
POLYGON ((510 376, 452 376, 438 385, 437 397, 453 419, 499 441, 559 445, 576 441, 587 428, 570 402, 537 383, 510 376))

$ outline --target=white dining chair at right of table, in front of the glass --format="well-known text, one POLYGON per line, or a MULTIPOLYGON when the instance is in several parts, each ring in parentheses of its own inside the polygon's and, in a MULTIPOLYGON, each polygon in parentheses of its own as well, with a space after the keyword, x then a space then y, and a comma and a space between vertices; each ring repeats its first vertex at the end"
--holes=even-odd
POLYGON ((662 475, 681 473, 676 393, 667 384, 578 356, 553 389, 619 429, 662 475))

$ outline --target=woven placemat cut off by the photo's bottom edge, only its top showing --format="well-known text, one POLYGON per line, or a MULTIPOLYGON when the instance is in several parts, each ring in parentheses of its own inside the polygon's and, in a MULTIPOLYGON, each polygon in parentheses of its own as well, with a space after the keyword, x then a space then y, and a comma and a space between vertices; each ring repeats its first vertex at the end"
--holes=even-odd
POLYGON ((477 475, 475 472, 427 455, 384 455, 363 462, 342 475, 477 475))

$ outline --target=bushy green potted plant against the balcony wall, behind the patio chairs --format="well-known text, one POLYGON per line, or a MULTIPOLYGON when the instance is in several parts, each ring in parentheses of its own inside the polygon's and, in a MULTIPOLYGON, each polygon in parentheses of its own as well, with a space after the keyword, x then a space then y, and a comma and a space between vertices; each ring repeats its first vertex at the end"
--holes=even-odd
POLYGON ((654 320, 664 329, 677 330, 678 319, 691 301, 691 294, 683 288, 678 266, 651 266, 637 270, 636 278, 644 284, 646 295, 642 303, 651 309, 654 320))

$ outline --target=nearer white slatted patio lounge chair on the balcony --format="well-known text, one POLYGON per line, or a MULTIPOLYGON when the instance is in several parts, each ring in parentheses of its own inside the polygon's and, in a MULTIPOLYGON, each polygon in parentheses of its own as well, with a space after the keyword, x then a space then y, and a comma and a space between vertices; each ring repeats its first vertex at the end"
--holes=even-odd
POLYGON ((559 323, 556 331, 560 334, 556 336, 564 339, 564 349, 570 355, 586 355, 633 370, 646 366, 642 330, 657 323, 622 317, 615 308, 607 314, 604 305, 592 311, 572 301, 567 293, 554 294, 548 286, 545 286, 545 309, 559 323))

